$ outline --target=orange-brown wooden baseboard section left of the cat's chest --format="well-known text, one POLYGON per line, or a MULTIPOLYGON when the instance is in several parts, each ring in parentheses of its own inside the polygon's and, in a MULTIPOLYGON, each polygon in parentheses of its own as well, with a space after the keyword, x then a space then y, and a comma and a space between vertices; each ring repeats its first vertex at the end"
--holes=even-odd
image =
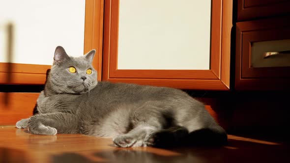
POLYGON ((0 92, 0 126, 15 125, 32 115, 39 93, 0 92))

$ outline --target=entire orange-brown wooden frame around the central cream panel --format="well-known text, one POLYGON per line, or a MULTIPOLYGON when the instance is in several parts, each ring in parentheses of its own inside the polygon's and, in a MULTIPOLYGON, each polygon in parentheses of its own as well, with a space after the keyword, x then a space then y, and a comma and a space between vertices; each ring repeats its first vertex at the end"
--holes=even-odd
POLYGON ((212 0, 210 70, 118 70, 119 0, 105 1, 102 80, 184 89, 229 90, 232 0, 212 0))

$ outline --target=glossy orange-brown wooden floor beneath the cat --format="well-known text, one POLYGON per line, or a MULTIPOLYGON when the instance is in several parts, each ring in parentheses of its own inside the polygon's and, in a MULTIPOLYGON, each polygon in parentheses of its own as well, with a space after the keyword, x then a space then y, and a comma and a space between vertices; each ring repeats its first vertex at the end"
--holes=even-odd
POLYGON ((290 163, 289 143, 229 135, 223 147, 117 148, 109 138, 0 126, 0 163, 290 163))

